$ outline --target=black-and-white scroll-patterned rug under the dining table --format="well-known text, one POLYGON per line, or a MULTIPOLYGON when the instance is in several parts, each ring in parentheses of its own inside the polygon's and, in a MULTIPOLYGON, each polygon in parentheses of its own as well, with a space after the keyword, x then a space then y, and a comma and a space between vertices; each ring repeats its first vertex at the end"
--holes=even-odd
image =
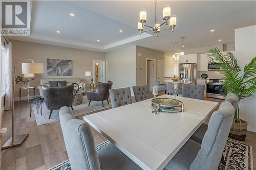
MULTIPOLYGON (((96 151, 108 145, 110 142, 107 140, 95 147, 96 151)), ((252 147, 248 144, 227 139, 227 144, 224 149, 224 157, 226 164, 220 163, 218 170, 240 169, 252 170, 252 147)), ((66 160, 48 170, 71 170, 69 160, 66 160)))

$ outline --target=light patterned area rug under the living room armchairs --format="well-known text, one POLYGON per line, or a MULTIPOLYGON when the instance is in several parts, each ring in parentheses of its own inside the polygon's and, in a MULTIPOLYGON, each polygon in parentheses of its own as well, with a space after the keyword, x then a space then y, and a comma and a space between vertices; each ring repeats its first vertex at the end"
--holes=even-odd
MULTIPOLYGON (((100 111, 106 108, 111 108, 111 103, 108 105, 108 102, 104 101, 104 107, 102 107, 101 101, 91 101, 90 106, 88 106, 89 101, 87 100, 87 96, 83 97, 82 104, 73 106, 73 114, 74 116, 89 114, 94 111, 100 111)), ((36 125, 45 125, 52 122, 59 121, 59 110, 53 110, 51 118, 49 119, 50 110, 47 109, 45 102, 42 103, 42 115, 37 113, 36 106, 33 105, 33 110, 35 114, 36 125)))

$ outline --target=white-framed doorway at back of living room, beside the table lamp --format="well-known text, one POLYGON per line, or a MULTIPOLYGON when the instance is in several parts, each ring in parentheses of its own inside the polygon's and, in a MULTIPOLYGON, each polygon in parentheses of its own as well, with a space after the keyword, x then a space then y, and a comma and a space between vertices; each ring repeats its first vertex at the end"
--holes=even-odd
POLYGON ((93 60, 94 87, 98 88, 98 82, 105 82, 105 61, 93 60))

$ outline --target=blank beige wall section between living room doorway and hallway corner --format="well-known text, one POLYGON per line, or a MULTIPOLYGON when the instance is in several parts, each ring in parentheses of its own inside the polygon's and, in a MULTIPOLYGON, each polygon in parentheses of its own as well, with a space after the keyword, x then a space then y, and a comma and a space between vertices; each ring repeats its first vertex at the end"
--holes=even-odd
MULTIPOLYGON (((113 82, 112 88, 132 88, 136 84, 135 49, 133 45, 105 54, 106 80, 113 82)), ((131 92, 133 92, 132 89, 131 92)))

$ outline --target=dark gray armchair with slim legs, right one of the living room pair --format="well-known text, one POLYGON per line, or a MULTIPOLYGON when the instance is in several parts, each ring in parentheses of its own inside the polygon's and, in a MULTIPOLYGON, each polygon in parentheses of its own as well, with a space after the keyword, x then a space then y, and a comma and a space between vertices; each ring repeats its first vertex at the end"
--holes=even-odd
POLYGON ((87 90, 87 99, 90 101, 101 101, 102 107, 104 107, 103 101, 106 100, 109 104, 109 89, 111 88, 112 84, 110 83, 98 83, 98 91, 90 91, 87 90))

